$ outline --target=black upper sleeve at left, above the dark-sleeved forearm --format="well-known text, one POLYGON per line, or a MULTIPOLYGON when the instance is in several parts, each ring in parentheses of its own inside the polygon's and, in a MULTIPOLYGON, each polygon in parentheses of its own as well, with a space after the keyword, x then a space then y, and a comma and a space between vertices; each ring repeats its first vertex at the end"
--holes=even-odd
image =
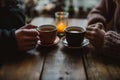
POLYGON ((25 14, 19 7, 0 9, 0 29, 18 29, 25 25, 25 14))

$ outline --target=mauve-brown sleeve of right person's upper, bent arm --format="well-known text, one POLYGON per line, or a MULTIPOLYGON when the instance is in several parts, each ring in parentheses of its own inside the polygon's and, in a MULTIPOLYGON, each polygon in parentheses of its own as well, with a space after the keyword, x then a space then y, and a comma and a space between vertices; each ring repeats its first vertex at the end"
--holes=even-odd
POLYGON ((101 3, 89 13, 88 25, 96 22, 106 24, 112 19, 114 10, 115 2, 113 0, 101 0, 101 3))

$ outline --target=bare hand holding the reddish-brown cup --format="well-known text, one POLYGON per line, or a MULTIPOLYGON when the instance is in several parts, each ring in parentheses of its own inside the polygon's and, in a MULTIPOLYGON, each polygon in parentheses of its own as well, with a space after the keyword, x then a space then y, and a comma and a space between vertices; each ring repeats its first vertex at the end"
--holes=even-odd
POLYGON ((39 32, 36 26, 26 25, 15 31, 16 40, 20 51, 27 51, 34 48, 39 39, 39 32))

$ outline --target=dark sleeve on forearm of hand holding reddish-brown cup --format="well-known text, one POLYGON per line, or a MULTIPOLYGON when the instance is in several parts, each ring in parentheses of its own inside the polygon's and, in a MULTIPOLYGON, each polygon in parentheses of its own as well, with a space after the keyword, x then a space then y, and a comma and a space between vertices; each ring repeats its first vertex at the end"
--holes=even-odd
POLYGON ((0 29, 0 55, 18 52, 15 30, 0 29))

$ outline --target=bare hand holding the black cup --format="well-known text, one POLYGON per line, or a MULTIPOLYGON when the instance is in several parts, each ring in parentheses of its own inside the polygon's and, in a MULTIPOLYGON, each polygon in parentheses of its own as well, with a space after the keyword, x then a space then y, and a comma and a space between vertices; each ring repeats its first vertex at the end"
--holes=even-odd
POLYGON ((104 43, 105 30, 102 23, 89 25, 86 29, 86 38, 96 47, 100 48, 104 43))

